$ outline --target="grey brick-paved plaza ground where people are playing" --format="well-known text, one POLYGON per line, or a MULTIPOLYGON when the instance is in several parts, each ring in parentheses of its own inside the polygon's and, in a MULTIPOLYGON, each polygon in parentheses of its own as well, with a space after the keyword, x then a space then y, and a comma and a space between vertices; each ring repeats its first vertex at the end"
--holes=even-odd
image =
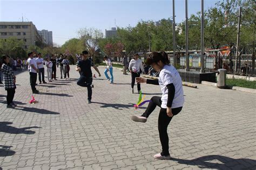
MULTIPOLYGON (((71 80, 38 84, 36 104, 29 104, 28 72, 17 74, 15 109, 5 107, 0 87, 0 169, 256 169, 255 94, 183 87, 184 108, 168 130, 172 159, 156 160, 159 108, 146 123, 132 122, 147 104, 133 108, 138 94, 131 94, 130 75, 113 69, 109 84, 99 70, 91 104, 75 66, 71 80)), ((145 100, 161 95, 150 84, 142 91, 145 100)))

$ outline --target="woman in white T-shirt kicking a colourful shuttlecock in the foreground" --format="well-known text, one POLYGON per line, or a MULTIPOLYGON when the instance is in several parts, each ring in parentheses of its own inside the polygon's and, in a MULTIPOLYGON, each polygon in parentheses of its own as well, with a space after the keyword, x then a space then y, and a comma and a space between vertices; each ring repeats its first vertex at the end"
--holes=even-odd
POLYGON ((142 77, 137 78, 138 83, 148 83, 159 85, 162 96, 153 96, 142 116, 131 116, 134 122, 146 122, 147 118, 157 107, 160 107, 158 117, 158 131, 162 146, 162 152, 154 155, 156 159, 171 159, 169 153, 169 138, 167 128, 172 117, 177 115, 184 104, 183 87, 181 77, 173 66, 169 64, 168 56, 165 52, 152 52, 147 58, 147 64, 159 71, 158 80, 150 80, 142 77))

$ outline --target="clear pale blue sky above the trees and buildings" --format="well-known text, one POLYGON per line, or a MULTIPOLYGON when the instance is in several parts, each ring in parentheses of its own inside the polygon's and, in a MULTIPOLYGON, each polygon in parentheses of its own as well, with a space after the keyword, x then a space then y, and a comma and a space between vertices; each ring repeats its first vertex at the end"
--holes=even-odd
MULTIPOLYGON (((218 0, 205 0, 205 10, 218 0)), ((201 10, 201 0, 188 0, 188 16, 201 10)), ((185 0, 175 1, 176 23, 185 20, 185 0)), ((172 0, 0 0, 1 22, 33 22, 37 30, 52 31, 53 43, 61 46, 78 38, 81 28, 136 26, 140 20, 172 17, 172 0)))

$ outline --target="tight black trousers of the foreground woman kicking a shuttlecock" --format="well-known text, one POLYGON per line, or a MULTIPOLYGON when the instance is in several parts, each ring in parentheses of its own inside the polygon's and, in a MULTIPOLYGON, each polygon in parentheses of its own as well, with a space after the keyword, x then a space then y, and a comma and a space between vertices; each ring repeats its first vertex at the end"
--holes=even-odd
MULTIPOLYGON (((156 107, 161 107, 161 97, 153 96, 150 100, 149 105, 147 106, 146 111, 142 116, 149 117, 149 115, 156 109, 156 107)), ((182 107, 172 108, 173 116, 177 115, 181 111, 182 107)), ((167 133, 167 127, 171 122, 172 117, 167 116, 166 109, 161 108, 158 117, 158 132, 162 145, 161 155, 167 156, 169 155, 169 137, 167 133)))

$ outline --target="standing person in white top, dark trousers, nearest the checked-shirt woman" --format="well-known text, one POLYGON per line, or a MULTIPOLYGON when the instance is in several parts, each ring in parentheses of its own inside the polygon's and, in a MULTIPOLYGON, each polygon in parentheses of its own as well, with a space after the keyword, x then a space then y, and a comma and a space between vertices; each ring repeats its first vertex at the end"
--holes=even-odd
POLYGON ((36 79, 37 79, 37 73, 38 73, 38 67, 36 60, 33 58, 33 52, 28 53, 29 59, 29 74, 30 74, 30 86, 32 89, 33 94, 38 94, 39 91, 36 89, 36 79))

